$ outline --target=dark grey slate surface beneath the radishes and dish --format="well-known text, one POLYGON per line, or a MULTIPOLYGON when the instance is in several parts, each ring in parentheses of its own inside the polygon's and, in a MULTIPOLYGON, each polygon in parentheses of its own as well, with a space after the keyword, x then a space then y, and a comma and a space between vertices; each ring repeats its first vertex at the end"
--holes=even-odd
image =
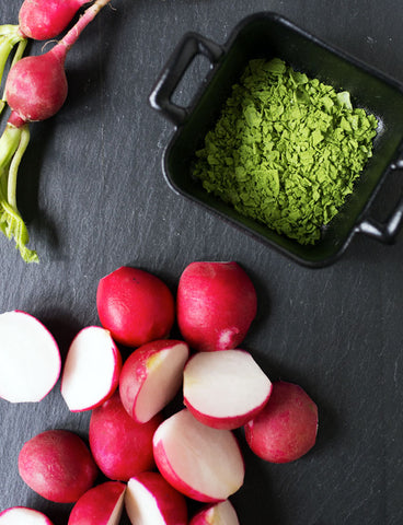
MULTIPOLYGON (((15 23, 19 4, 1 2, 0 21, 15 23)), ((272 378, 301 384, 320 411, 318 445, 302 459, 269 465, 245 450, 245 485, 232 498, 240 523, 403 523, 403 238, 383 246, 357 236, 329 268, 297 266, 168 189, 161 155, 173 127, 148 104, 184 33, 224 43, 239 21, 262 10, 286 15, 403 82, 403 4, 114 0, 113 7, 68 56, 62 110, 32 126, 19 203, 42 262, 25 266, 0 238, 1 311, 36 315, 65 354, 80 328, 99 323, 97 281, 120 265, 156 272, 174 291, 192 260, 239 261, 260 302, 244 347, 272 378)), ((202 72, 202 66, 192 71, 180 97, 186 100, 202 72)), ((373 217, 383 219, 400 191, 400 176, 390 177, 373 217)), ((18 454, 50 428, 85 438, 89 418, 68 411, 59 384, 37 405, 0 401, 1 510, 27 505, 55 525, 67 523, 71 505, 28 489, 18 475, 18 454)))

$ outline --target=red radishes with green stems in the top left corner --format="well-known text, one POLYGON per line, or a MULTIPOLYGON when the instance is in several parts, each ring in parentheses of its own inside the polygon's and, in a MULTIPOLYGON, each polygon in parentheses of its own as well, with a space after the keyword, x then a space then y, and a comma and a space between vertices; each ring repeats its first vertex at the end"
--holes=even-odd
POLYGON ((0 113, 5 103, 11 109, 0 138, 0 229, 9 238, 14 238, 26 262, 38 261, 36 252, 26 246, 28 233, 16 206, 18 171, 30 142, 28 124, 54 116, 64 105, 68 91, 67 52, 110 1, 93 1, 61 40, 36 57, 21 58, 27 38, 55 38, 89 0, 25 0, 20 10, 20 24, 0 26, 0 82, 8 57, 19 44, 0 104, 0 113))

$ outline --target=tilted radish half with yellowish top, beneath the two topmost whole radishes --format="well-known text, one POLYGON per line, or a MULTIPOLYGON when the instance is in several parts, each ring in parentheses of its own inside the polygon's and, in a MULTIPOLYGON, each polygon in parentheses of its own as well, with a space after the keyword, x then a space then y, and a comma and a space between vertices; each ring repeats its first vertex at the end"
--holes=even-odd
POLYGON ((128 357, 120 373, 119 393, 129 416, 145 423, 173 399, 181 388, 188 354, 186 342, 161 339, 128 357))

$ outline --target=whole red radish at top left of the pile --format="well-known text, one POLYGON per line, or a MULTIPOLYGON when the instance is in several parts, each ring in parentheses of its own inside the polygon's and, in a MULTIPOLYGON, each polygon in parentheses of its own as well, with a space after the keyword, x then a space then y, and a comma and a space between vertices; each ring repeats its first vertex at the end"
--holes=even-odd
POLYGON ((157 276, 128 266, 100 280, 96 307, 102 326, 128 347, 168 337, 175 317, 168 285, 157 276))

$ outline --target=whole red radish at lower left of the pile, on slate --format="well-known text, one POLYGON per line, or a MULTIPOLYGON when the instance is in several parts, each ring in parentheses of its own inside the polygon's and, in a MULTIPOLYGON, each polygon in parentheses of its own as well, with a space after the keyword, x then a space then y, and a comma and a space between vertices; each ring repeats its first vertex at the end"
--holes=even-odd
POLYGON ((19 471, 32 490, 55 503, 74 503, 99 474, 85 443, 67 430, 47 430, 27 441, 19 471))

